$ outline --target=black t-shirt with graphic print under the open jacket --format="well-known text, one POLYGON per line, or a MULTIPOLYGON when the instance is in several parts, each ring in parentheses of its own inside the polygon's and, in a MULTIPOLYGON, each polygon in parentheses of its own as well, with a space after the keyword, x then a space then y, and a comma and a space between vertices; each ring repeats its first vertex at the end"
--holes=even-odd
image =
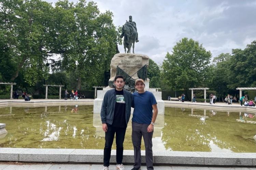
POLYGON ((126 128, 124 90, 116 90, 116 104, 112 126, 117 128, 126 128))

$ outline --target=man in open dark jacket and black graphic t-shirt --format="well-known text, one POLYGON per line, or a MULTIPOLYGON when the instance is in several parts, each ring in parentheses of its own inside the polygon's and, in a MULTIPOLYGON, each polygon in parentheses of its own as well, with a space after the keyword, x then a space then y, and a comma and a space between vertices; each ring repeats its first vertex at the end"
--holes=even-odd
POLYGON ((114 89, 108 90, 101 106, 102 129, 105 131, 103 170, 109 170, 111 147, 116 134, 116 168, 125 170, 123 161, 123 143, 128 121, 131 115, 132 94, 123 89, 125 80, 122 75, 114 79, 114 89))

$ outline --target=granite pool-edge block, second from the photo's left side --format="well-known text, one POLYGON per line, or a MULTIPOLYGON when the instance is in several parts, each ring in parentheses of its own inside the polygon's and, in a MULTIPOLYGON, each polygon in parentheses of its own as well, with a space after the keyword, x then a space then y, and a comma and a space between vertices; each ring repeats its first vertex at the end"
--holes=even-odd
POLYGON ((22 162, 69 162, 69 154, 75 149, 29 149, 19 154, 22 162))

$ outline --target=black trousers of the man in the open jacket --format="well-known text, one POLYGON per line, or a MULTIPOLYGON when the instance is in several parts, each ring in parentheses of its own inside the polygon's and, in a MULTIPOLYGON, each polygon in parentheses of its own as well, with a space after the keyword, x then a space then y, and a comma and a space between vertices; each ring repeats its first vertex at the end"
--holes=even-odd
POLYGON ((125 140, 126 128, 116 128, 108 125, 108 131, 105 132, 105 148, 104 148, 104 158, 103 165, 105 167, 109 166, 111 147, 113 144, 114 136, 116 134, 116 163, 122 164, 123 162, 123 143, 125 140))

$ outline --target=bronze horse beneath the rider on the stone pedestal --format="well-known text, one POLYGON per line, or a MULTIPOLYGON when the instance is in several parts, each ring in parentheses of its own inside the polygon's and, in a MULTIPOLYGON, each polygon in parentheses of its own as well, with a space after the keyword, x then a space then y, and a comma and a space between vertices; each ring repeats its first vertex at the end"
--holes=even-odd
POLYGON ((127 53, 131 53, 131 46, 132 46, 132 53, 134 54, 134 43, 136 41, 137 31, 129 23, 125 23, 123 25, 122 31, 124 32, 123 43, 124 43, 125 53, 126 53, 126 48, 128 49, 127 53))

